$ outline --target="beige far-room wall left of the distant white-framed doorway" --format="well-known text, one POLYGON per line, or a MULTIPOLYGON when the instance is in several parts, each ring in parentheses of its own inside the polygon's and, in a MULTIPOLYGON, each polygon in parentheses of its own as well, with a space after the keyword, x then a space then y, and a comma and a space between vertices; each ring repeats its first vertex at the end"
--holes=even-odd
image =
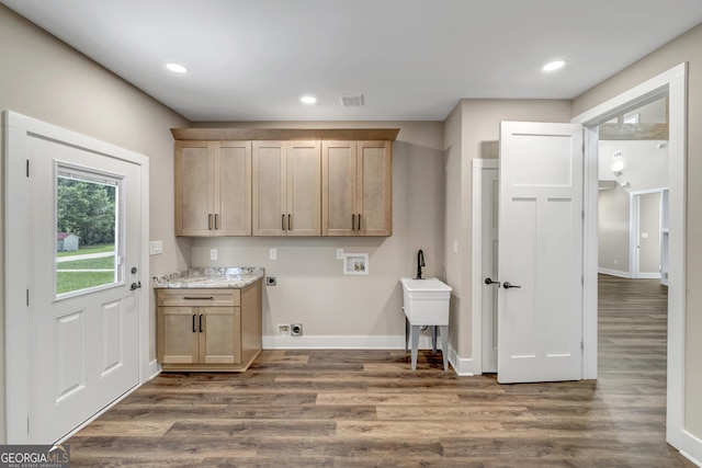
POLYGON ((598 266, 629 276, 629 192, 619 184, 598 194, 598 266))

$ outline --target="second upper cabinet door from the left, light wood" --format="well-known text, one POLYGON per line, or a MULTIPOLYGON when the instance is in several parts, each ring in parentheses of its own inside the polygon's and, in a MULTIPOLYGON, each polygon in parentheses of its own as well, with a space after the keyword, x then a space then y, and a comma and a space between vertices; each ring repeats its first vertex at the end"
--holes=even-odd
POLYGON ((251 142, 216 145, 215 236, 251 236, 251 142))

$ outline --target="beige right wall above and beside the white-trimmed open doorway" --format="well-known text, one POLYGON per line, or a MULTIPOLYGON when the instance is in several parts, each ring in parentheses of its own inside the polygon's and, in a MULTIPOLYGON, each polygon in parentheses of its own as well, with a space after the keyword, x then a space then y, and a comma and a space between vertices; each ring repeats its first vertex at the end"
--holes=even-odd
POLYGON ((678 64, 689 64, 687 187, 687 315, 684 425, 702 438, 702 25, 671 41, 574 101, 578 115, 678 64))

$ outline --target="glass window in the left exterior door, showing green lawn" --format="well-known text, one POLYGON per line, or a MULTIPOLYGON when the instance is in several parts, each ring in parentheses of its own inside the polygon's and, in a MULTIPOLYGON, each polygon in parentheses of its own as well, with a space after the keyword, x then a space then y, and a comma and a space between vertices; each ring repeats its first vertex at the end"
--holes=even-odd
POLYGON ((56 178, 56 296, 121 281, 120 181, 59 167, 56 178))

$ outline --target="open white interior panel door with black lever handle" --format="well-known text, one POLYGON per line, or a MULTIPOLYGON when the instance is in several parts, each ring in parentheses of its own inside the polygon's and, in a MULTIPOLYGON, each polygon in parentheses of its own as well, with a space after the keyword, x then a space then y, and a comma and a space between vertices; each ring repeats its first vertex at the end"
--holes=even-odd
POLYGON ((582 375, 582 128, 500 127, 498 381, 582 375))

